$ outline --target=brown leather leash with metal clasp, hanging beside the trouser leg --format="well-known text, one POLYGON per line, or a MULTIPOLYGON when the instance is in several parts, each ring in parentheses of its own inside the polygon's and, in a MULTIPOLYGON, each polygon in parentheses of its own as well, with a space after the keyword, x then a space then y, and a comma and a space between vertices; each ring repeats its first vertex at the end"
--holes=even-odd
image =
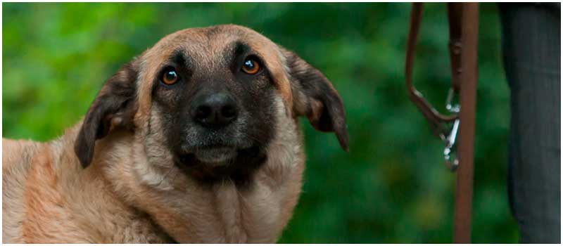
POLYGON ((430 123, 434 134, 445 143, 444 159, 451 171, 457 171, 455 190, 454 242, 471 242, 473 200, 473 158, 475 136, 475 105, 477 89, 477 41, 479 34, 479 3, 448 3, 450 24, 450 63, 452 86, 443 115, 431 105, 412 84, 415 47, 422 20, 422 3, 413 3, 407 40, 405 82, 410 100, 430 123), (459 95, 459 103, 455 96, 459 95), (459 143, 455 145, 459 131, 459 143), (457 147, 454 157, 453 148, 457 147))

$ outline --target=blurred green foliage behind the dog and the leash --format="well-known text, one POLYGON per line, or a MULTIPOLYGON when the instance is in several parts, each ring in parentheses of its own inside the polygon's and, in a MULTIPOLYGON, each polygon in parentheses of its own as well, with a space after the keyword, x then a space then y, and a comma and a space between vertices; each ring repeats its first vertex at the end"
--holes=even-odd
MULTIPOLYGON (((300 54, 339 90, 350 153, 305 127, 301 200, 280 242, 451 242, 455 176, 407 98, 410 4, 2 4, 7 138, 47 141, 86 112, 118 67, 187 27, 246 25, 300 54)), ((445 4, 426 4, 415 84, 443 105, 445 4)), ((507 202, 509 91, 495 4, 481 4, 474 242, 517 242, 507 202)))

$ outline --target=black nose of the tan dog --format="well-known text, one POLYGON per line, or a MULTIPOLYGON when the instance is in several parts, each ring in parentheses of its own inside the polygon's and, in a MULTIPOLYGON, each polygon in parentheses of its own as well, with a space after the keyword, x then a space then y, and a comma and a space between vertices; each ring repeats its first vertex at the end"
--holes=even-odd
POLYGON ((213 93, 194 101, 191 117, 210 127, 224 127, 239 115, 234 99, 227 93, 213 93))

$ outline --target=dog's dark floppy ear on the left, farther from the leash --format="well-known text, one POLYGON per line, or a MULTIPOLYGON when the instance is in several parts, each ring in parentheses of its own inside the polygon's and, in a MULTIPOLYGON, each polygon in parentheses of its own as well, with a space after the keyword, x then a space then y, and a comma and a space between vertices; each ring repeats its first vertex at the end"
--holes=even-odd
POLYGON ((75 141, 75 153, 82 167, 88 167, 94 157, 96 140, 106 136, 114 127, 132 129, 137 110, 136 86, 138 65, 133 60, 123 65, 90 105, 75 141))

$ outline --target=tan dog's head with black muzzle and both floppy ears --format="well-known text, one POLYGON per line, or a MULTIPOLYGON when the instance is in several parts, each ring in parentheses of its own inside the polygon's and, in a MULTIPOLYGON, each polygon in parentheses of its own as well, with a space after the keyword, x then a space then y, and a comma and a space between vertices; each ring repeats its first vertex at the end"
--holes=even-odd
POLYGON ((87 167, 96 139, 127 127, 147 152, 170 155, 196 175, 244 173, 267 158, 278 119, 299 116, 334 131, 348 150, 342 100, 319 70, 246 27, 192 28, 161 39, 108 79, 75 152, 87 167))

